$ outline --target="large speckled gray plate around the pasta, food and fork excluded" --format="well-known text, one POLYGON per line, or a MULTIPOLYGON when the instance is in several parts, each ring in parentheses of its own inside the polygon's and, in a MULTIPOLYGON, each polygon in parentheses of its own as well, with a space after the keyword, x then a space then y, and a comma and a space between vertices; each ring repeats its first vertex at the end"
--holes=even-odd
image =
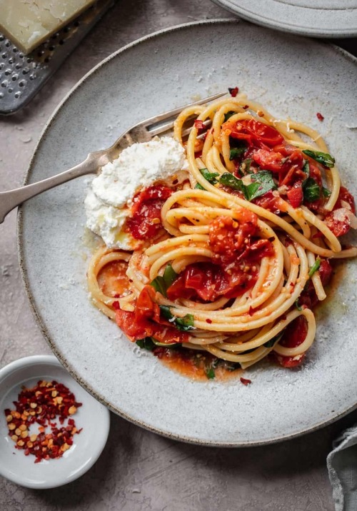
MULTIPOLYGON (((356 69, 356 59, 333 46, 243 22, 205 21, 161 31, 110 56, 71 91, 45 128, 27 181, 110 146, 143 118, 238 85, 276 116, 321 130, 356 193, 356 69)), ((353 262, 320 314, 303 368, 263 363, 246 372, 248 387, 239 379, 197 383, 139 350, 91 305, 83 257, 86 181, 24 205, 19 253, 41 330, 90 393, 149 430, 210 445, 257 445, 301 435, 355 408, 353 262)))

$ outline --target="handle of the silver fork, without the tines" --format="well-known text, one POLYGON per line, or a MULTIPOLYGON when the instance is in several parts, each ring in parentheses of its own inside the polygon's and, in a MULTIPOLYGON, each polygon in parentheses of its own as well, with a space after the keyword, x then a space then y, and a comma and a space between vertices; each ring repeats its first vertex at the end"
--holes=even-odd
POLYGON ((79 176, 96 173, 102 163, 106 163, 106 158, 102 151, 89 153, 84 161, 69 168, 68 171, 38 181, 37 183, 32 183, 31 185, 21 186, 21 188, 16 188, 15 190, 0 192, 0 223, 4 222, 6 215, 10 213, 10 211, 23 202, 28 201, 29 198, 35 197, 39 195, 39 193, 59 186, 67 181, 71 181, 71 179, 78 178, 79 176))

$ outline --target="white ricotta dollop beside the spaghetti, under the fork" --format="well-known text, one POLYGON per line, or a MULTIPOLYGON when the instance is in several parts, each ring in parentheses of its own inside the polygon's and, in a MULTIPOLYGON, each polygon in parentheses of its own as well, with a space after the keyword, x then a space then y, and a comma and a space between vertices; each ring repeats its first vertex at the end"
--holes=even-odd
POLYGON ((187 169, 185 151, 174 138, 134 143, 119 158, 106 163, 92 181, 84 201, 86 226, 101 236, 107 247, 134 250, 139 241, 122 231, 134 196, 156 181, 166 181, 187 169))

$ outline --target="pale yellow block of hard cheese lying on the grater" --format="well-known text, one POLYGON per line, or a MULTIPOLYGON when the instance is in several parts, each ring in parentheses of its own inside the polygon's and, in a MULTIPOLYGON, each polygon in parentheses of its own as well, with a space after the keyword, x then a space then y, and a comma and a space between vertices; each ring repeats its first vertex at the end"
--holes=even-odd
POLYGON ((24 54, 96 0, 0 0, 0 31, 24 54))

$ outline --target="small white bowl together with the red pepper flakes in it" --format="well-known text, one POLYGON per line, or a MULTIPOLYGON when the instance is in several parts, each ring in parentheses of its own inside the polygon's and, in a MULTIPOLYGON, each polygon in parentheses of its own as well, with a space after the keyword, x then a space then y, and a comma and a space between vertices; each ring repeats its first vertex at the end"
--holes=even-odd
POLYGON ((21 358, 0 370, 0 475, 51 488, 83 475, 109 434, 109 410, 54 356, 21 358))

